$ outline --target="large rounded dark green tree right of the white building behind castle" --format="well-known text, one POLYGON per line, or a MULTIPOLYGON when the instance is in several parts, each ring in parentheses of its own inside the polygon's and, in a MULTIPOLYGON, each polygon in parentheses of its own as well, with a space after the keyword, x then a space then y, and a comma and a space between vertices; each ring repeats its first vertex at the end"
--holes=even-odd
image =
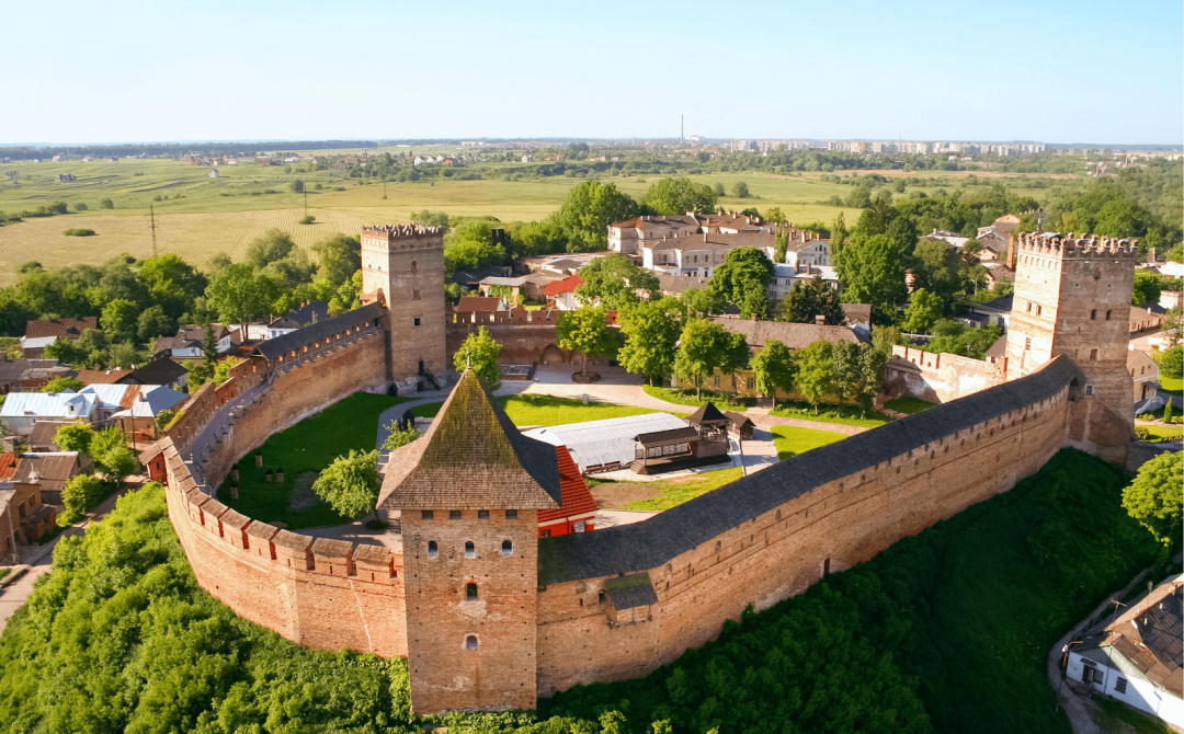
MULTIPOLYGON (((870 210, 869 210, 870 211, 870 210)), ((880 321, 892 322, 908 294, 905 286, 905 251, 889 234, 851 237, 835 262, 843 283, 843 301, 868 303, 880 321)))

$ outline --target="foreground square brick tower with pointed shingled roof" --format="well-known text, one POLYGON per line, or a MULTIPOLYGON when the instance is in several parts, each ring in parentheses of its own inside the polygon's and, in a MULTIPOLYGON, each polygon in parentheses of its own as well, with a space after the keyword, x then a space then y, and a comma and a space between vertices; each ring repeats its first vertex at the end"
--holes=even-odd
POLYGON ((519 432, 466 369, 379 507, 401 511, 407 669, 418 713, 534 708, 539 510, 561 503, 555 448, 519 432))

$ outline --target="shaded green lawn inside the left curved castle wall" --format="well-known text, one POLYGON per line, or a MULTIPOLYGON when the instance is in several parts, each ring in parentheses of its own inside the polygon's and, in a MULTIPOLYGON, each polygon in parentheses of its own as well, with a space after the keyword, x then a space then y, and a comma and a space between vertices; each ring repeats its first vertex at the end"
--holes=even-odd
POLYGON ((373 393, 354 393, 315 416, 309 416, 287 431, 269 438, 259 453, 263 466, 255 466, 255 452, 238 463, 238 500, 230 498, 230 477, 218 488, 219 502, 263 522, 284 522, 290 529, 339 524, 353 520, 342 517, 328 504, 316 500, 303 510, 289 507, 296 481, 302 474, 320 472, 337 456, 350 449, 372 451, 378 437, 378 418, 392 405, 406 398, 373 393), (269 469, 283 469, 282 484, 266 482, 269 469))

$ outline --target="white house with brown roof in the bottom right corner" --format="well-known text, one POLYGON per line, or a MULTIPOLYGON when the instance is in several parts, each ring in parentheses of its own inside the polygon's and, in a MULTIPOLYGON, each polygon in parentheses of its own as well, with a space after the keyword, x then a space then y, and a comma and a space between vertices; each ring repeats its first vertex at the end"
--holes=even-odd
POLYGON ((1070 642, 1066 677, 1176 728, 1184 726, 1184 575, 1070 642), (1102 626, 1105 625, 1105 626, 1102 626))

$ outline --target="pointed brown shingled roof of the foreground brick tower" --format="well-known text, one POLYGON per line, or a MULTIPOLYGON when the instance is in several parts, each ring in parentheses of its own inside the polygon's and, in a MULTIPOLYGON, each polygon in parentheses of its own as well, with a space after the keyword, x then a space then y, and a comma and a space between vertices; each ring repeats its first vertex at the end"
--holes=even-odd
POLYGON ((554 509, 555 448, 519 432, 466 369, 419 439, 391 453, 382 509, 554 509))

